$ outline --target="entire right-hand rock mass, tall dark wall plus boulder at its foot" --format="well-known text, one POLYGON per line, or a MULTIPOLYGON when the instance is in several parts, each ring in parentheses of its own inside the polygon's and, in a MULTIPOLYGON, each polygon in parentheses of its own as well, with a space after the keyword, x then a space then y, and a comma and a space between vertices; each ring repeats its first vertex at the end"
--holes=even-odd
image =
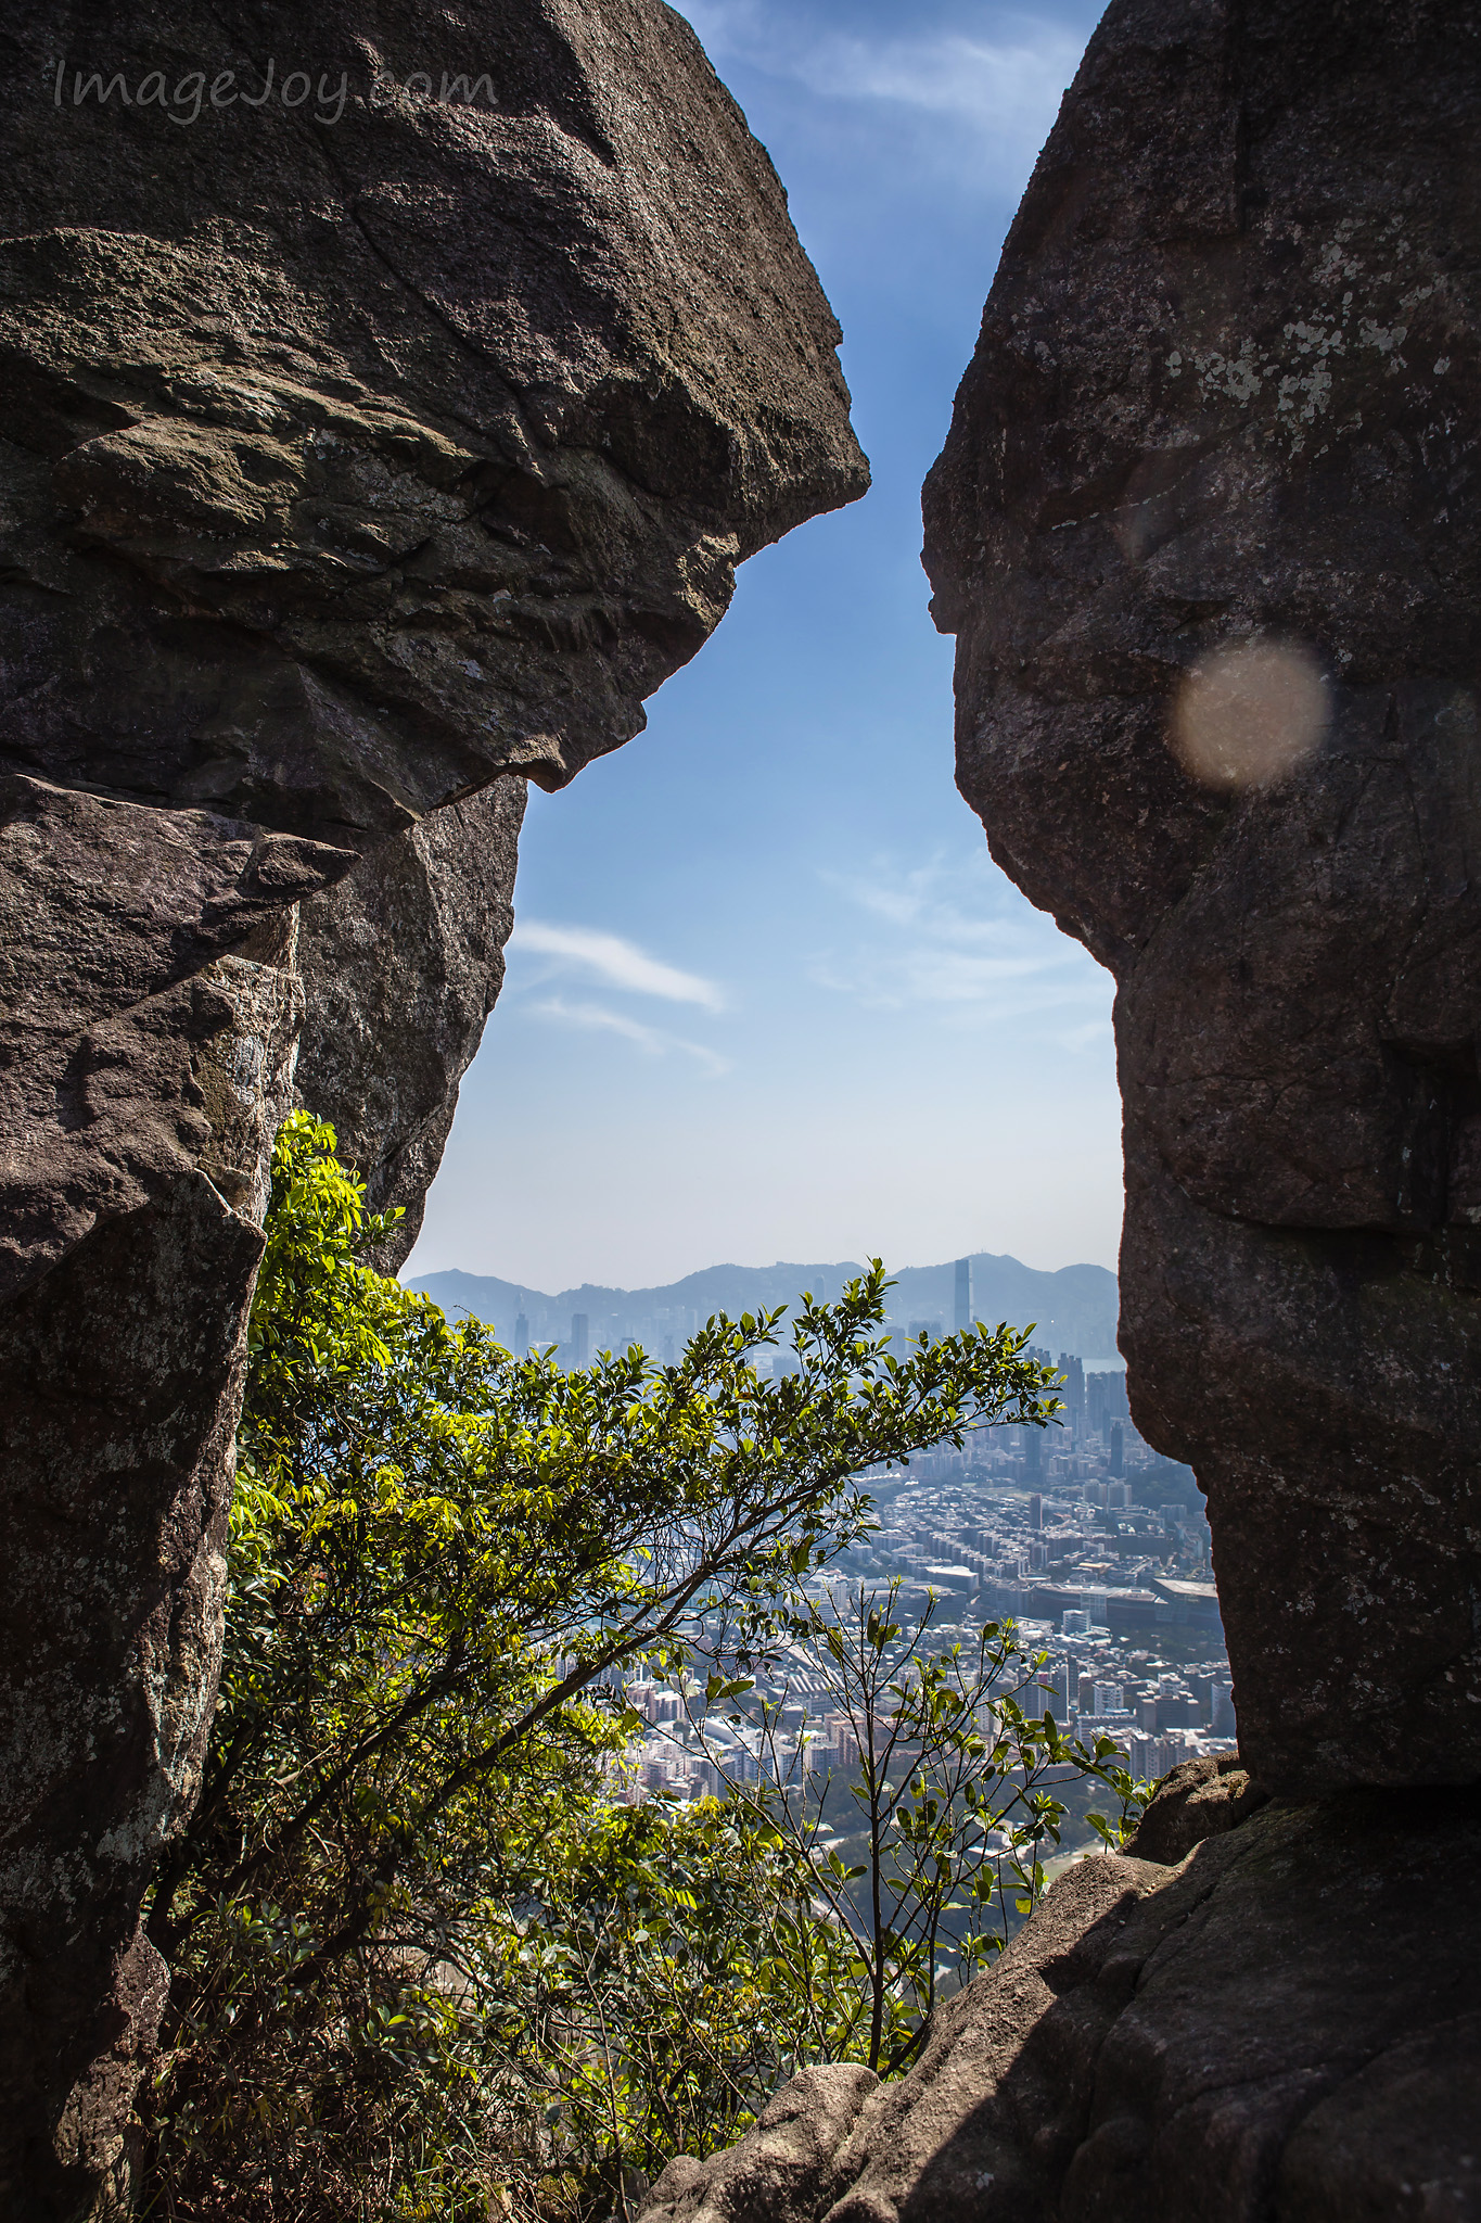
POLYGON ((1479 131, 1468 0, 1112 0, 1008 236, 957 782, 1117 976, 1130 1407, 1259 1790, 1070 1870, 779 2223, 1481 2214, 1479 131))

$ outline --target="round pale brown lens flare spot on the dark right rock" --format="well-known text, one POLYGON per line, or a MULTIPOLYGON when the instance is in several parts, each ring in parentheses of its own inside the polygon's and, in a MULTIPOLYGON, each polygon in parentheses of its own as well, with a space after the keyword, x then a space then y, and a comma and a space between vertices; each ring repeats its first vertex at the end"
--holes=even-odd
POLYGON ((1321 745, 1330 702, 1321 665, 1297 640, 1215 649, 1177 691, 1168 747, 1203 787, 1270 787, 1321 745))

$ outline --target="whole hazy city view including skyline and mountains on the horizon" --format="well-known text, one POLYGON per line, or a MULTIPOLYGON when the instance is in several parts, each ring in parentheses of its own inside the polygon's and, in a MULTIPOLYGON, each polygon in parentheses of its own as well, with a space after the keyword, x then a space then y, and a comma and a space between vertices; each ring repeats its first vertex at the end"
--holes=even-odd
MULTIPOLYGON (((799 1274, 810 1276, 815 1296, 837 1296, 848 1272, 728 1267, 668 1289, 580 1292, 584 1305, 560 1323, 562 1334, 551 1334, 560 1300, 537 1292, 497 1280, 475 1289, 475 1276, 462 1274, 431 1276, 424 1287, 455 1309, 473 1309, 477 1294, 480 1316, 495 1314, 491 1325, 515 1352, 553 1343, 562 1363, 586 1365, 604 1347, 639 1340, 668 1363, 708 1316, 695 1296, 711 1309, 739 1309, 773 1300, 748 1287, 753 1280, 790 1276, 795 1296, 799 1274)), ((1050 1316, 1068 1323, 1079 1312, 1081 1325, 1095 1325, 1099 1312, 1115 1320, 1115 1278, 1101 1267, 1032 1274, 984 1254, 895 1278, 886 1325, 897 1349, 975 1318, 997 1320, 984 1283, 988 1298, 1001 1298, 1019 1294, 1015 1276, 1050 1316)), ((1110 1736, 1137 1778, 1235 1752, 1210 1536, 1192 1472, 1137 1434, 1119 1360, 1097 1365, 1092 1354, 1086 1363, 1077 1349, 1037 1340, 1028 1349, 1061 1376, 1059 1420, 1048 1429, 979 1427, 959 1452, 944 1447, 908 1469, 866 1476, 877 1529, 837 1554, 808 1585, 810 1596, 824 1612, 846 1614, 862 1585, 897 1585, 906 1638, 928 1616, 933 1649, 970 1641, 990 1621, 1017 1623, 1030 1654, 1044 1654, 1019 1701, 1026 1712, 1052 1712, 1061 1729, 1086 1741, 1110 1736)), ((762 1352, 757 1365, 779 1376, 795 1360, 784 1349, 762 1352)), ((806 1647, 782 1658, 755 1692, 773 1709, 764 1736, 757 1723, 704 1718, 695 1687, 637 1678, 628 1696, 648 1721, 631 1754, 633 1798, 713 1796, 764 1767, 784 1776, 857 1767, 853 1727, 806 1647)))

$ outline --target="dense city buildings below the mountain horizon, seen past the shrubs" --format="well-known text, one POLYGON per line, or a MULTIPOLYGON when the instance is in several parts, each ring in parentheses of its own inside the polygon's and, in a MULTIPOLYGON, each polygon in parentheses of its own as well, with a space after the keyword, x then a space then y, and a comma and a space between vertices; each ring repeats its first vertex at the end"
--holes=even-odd
MULTIPOLYGON (((1039 1354, 1048 1356, 1048 1354, 1039 1354)), ((1139 1778, 1197 1754, 1235 1752, 1235 1709, 1208 1525, 1192 1474, 1152 1452, 1126 1412, 1117 1372, 1059 1354, 1066 1414, 1050 1429, 977 1429, 908 1472, 868 1478, 877 1529, 810 1585, 848 1614, 859 1587, 897 1587, 908 1629, 928 1616, 935 1645, 1012 1621, 1041 1656, 1021 1692, 1075 1736, 1110 1736, 1139 1778)), ((699 1725, 695 1696, 655 1683, 631 1692, 648 1721, 631 1794, 695 1798, 724 1778, 753 1781, 755 1729, 699 1725)), ((850 1772, 853 1732, 806 1649, 782 1661, 762 1696, 779 1707, 784 1770, 850 1772)))

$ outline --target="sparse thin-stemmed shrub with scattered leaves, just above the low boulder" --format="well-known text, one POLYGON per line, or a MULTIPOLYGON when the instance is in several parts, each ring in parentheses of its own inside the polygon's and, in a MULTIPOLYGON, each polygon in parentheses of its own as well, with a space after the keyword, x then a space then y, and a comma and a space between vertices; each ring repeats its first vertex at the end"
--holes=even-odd
MULTIPOLYGON (((1110 1738, 1088 1747, 1066 1738, 1052 1714, 1024 1707, 1046 1654, 1030 1654, 1012 1623, 937 1647, 935 1605, 915 1629, 897 1605, 899 1583, 859 1585, 842 1612, 806 1598, 788 1618, 793 1661, 822 1683, 822 1705, 859 1754, 844 1798, 830 1772, 813 1772, 806 1743, 802 1756, 779 1745, 784 1701, 753 1714, 755 1785, 735 1772, 735 1747, 711 1736, 731 1778, 733 1825, 788 1876, 775 1896, 773 1954, 797 2001, 793 2050, 864 2061, 884 2076, 919 2054, 941 1985, 955 1990, 986 1967, 1015 1916, 1037 1905, 1044 1854, 1059 1845, 1068 1812, 1055 1785, 1088 1778, 1110 1792, 1115 1823, 1090 1816, 1108 1847, 1148 1796, 1110 1738)), ((739 1701, 744 1685, 728 1694, 739 1701)), ((731 1716, 737 1729, 744 1721, 731 1716)))

